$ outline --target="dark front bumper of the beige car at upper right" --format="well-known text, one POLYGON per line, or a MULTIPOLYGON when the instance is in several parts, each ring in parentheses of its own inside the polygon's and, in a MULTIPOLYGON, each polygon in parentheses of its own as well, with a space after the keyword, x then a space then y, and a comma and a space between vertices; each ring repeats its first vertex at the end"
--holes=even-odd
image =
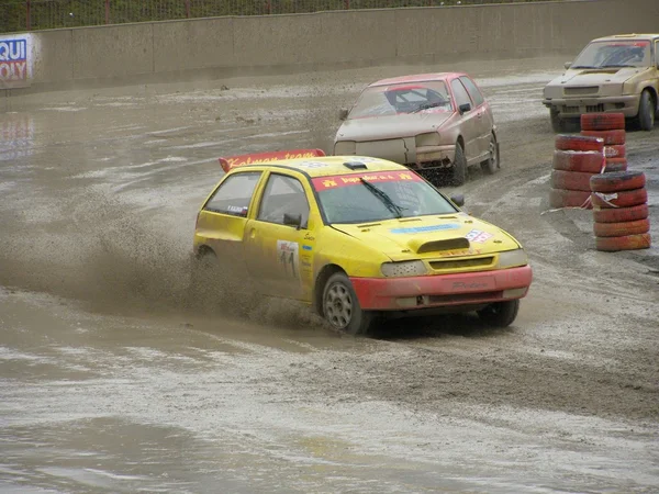
POLYGON ((624 113, 632 117, 638 114, 638 94, 590 98, 545 98, 543 104, 561 117, 578 117, 583 113, 624 113))

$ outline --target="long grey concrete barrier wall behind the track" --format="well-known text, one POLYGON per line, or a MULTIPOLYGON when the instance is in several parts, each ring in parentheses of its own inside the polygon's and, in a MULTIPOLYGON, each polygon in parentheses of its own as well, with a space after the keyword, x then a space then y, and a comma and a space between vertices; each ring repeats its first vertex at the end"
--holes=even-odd
POLYGON ((33 33, 32 88, 577 52, 657 32, 658 0, 566 0, 215 18, 33 33))

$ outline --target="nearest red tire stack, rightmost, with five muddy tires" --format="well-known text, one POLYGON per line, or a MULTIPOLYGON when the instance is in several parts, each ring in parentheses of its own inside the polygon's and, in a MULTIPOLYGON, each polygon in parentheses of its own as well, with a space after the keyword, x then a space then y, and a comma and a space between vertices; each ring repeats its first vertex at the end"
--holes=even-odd
POLYGON ((604 251, 650 247, 648 193, 641 171, 591 177, 595 248, 604 251))

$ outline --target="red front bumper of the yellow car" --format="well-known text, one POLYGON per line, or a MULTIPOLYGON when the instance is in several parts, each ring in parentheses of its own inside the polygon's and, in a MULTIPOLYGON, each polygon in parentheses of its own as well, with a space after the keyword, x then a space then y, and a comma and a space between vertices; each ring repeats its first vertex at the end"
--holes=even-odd
POLYGON ((496 271, 409 278, 350 278, 359 305, 367 311, 409 311, 478 305, 526 295, 530 266, 496 271))

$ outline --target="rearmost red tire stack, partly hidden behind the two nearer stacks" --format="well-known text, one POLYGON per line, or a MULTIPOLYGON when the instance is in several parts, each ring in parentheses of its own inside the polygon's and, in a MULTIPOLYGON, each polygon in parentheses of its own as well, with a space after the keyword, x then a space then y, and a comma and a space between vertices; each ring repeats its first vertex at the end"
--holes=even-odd
POLYGON ((623 113, 585 113, 581 115, 581 135, 604 141, 607 171, 627 169, 625 115, 623 113))

